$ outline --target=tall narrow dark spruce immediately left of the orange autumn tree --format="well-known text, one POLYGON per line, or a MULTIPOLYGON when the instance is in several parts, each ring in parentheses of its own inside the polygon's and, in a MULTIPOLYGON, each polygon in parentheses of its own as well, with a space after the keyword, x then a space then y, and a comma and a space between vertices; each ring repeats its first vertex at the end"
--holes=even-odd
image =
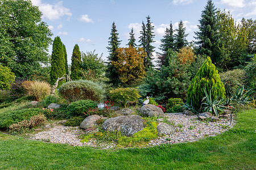
POLYGON ((121 44, 121 41, 119 40, 117 33, 117 29, 115 27, 115 23, 112 24, 112 29, 109 37, 109 46, 107 47, 109 50, 109 56, 108 56, 108 66, 106 69, 106 77, 109 78, 109 83, 112 84, 112 86, 117 87, 121 81, 119 80, 119 76, 117 73, 117 70, 115 69, 112 62, 118 61, 117 52, 116 50, 119 48, 119 45, 121 44))

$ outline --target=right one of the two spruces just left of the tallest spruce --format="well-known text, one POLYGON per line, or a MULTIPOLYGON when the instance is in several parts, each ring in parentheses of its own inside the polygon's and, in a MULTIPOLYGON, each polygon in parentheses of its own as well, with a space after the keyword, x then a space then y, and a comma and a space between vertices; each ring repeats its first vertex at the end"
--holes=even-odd
POLYGON ((178 51, 179 49, 183 48, 183 46, 187 46, 188 45, 188 41, 186 39, 186 37, 188 36, 188 34, 185 34, 185 27, 184 27, 184 23, 182 22, 182 20, 179 22, 179 27, 177 29, 175 29, 175 31, 177 32, 174 35, 174 39, 175 39, 175 50, 178 51))

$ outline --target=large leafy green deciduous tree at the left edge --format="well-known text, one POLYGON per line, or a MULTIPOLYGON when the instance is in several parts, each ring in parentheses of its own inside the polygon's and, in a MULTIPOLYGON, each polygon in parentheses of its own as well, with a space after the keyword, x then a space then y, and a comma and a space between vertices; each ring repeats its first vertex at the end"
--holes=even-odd
POLYGON ((31 1, 2 0, 0 4, 0 62, 17 78, 30 78, 49 62, 52 33, 31 1))

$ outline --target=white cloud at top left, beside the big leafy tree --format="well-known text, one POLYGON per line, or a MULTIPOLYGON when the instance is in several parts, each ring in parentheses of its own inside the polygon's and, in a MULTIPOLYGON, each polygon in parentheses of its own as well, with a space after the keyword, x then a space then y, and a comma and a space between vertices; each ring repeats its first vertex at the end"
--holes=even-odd
POLYGON ((43 17, 49 20, 57 20, 62 16, 71 16, 69 8, 63 6, 63 2, 59 1, 55 5, 49 3, 42 3, 41 0, 32 0, 33 5, 38 6, 39 10, 43 12, 43 17))

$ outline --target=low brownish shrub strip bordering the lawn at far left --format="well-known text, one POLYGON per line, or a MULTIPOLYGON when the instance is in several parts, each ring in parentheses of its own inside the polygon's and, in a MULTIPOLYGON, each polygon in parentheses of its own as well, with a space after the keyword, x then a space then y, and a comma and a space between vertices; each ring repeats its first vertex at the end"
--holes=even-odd
POLYGON ((46 121, 46 117, 44 117, 43 114, 38 114, 35 116, 32 116, 30 120, 23 120, 21 122, 18 122, 17 124, 9 125, 10 131, 22 131, 26 128, 34 128, 35 126, 43 125, 46 121))

